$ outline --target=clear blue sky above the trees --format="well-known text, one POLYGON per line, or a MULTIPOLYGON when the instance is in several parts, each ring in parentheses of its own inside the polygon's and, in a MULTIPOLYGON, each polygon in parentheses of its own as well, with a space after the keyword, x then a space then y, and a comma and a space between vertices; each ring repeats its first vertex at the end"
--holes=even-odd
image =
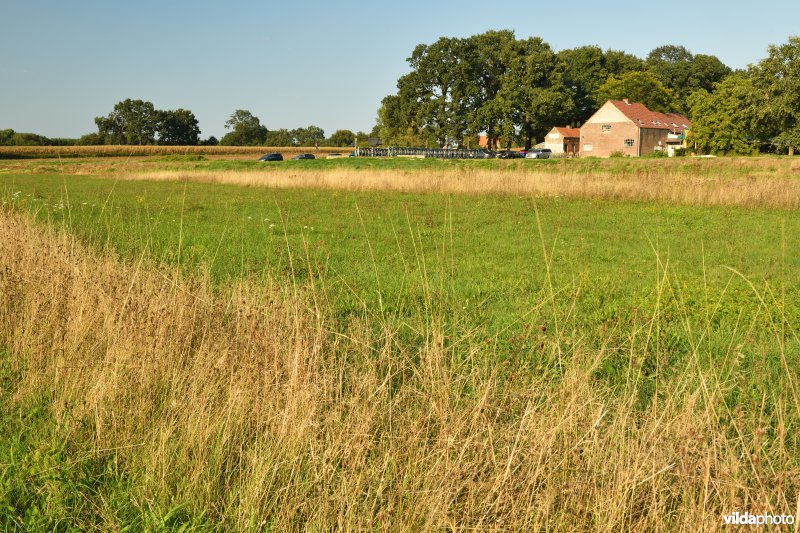
POLYGON ((733 68, 800 33, 800 2, 257 2, 0 0, 0 129, 96 131, 125 98, 190 109, 202 136, 235 109, 269 129, 369 131, 414 46, 511 29, 555 50, 644 57, 662 44, 733 68))

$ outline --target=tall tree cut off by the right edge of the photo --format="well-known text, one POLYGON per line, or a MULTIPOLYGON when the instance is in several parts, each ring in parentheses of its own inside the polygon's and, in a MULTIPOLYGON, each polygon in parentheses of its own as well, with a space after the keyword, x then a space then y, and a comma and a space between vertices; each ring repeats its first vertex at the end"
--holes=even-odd
POLYGON ((770 45, 769 56, 753 69, 756 89, 765 95, 761 123, 774 142, 794 155, 800 148, 800 37, 770 45))

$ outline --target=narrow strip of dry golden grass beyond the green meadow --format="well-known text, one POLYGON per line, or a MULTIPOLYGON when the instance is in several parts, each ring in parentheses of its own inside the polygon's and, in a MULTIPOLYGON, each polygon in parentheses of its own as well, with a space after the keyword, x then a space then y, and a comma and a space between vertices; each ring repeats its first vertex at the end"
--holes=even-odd
POLYGON ((739 176, 724 169, 695 174, 680 167, 652 172, 561 172, 530 168, 448 171, 328 169, 324 171, 155 171, 122 173, 115 178, 197 181, 255 187, 298 187, 354 191, 402 191, 453 194, 536 194, 570 198, 642 200, 694 205, 800 207, 800 179, 795 176, 739 176))

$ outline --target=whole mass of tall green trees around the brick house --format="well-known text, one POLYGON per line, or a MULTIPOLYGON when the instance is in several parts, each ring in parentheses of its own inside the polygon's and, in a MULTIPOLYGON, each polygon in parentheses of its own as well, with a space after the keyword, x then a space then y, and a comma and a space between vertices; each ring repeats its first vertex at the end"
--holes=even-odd
POLYGON ((530 148, 553 126, 580 126, 608 99, 641 102, 693 121, 694 149, 747 154, 800 146, 800 38, 733 71, 716 56, 680 45, 644 59, 581 46, 555 52, 510 30, 420 44, 410 72, 384 98, 376 131, 385 144, 530 148))

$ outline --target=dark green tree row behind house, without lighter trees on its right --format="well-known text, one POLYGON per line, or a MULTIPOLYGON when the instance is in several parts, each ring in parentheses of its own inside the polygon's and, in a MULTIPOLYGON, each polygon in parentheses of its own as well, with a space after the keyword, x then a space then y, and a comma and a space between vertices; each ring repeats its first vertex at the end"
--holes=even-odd
POLYGON ((383 99, 378 132, 385 142, 445 145, 486 133, 530 148, 554 125, 579 125, 608 98, 688 112, 696 90, 712 91, 731 73, 719 59, 662 46, 646 59, 583 46, 554 52, 538 37, 509 30, 418 45, 411 72, 383 99))

